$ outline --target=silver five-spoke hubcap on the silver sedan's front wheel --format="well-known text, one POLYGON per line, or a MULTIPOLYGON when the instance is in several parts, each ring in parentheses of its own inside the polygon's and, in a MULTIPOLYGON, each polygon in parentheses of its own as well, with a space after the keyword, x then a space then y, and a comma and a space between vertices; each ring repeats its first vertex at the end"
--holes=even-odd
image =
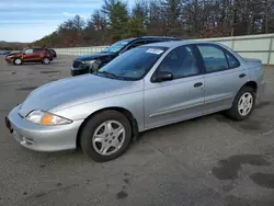
POLYGON ((125 135, 125 127, 119 122, 106 121, 93 134, 93 148, 102 156, 113 154, 123 146, 125 135))

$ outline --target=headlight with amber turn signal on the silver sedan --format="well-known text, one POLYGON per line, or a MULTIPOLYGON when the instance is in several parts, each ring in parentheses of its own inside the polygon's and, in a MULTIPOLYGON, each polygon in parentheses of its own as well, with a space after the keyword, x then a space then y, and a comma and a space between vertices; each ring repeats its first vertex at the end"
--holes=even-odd
POLYGON ((32 123, 44 126, 67 125, 72 123, 70 119, 43 111, 33 111, 27 114, 25 118, 32 123))

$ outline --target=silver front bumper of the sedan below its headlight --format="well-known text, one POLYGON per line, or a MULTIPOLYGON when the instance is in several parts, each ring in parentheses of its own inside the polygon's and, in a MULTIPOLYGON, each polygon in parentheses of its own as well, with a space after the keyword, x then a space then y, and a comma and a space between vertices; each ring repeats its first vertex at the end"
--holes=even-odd
POLYGON ((18 112, 19 106, 10 112, 5 123, 23 147, 35 151, 76 149, 77 134, 83 121, 75 121, 68 125, 41 126, 21 117, 18 112))

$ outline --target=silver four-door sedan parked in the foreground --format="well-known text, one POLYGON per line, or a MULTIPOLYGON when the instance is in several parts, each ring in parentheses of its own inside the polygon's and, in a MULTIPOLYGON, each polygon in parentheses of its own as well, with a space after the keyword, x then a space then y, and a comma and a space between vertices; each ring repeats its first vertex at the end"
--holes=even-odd
POLYGON ((247 118, 265 88, 262 62, 217 43, 168 42, 128 50, 95 73, 34 90, 5 118, 24 147, 81 147, 95 161, 119 157, 139 131, 226 111, 247 118))

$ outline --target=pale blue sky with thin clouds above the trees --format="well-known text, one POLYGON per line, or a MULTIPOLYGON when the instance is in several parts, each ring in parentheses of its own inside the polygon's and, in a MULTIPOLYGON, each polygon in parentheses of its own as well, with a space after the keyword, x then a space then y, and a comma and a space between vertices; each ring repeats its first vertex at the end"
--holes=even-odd
MULTIPOLYGON (((135 0, 127 0, 130 5, 135 0)), ((103 0, 0 0, 0 41, 33 42, 76 14, 85 20, 103 0)))

